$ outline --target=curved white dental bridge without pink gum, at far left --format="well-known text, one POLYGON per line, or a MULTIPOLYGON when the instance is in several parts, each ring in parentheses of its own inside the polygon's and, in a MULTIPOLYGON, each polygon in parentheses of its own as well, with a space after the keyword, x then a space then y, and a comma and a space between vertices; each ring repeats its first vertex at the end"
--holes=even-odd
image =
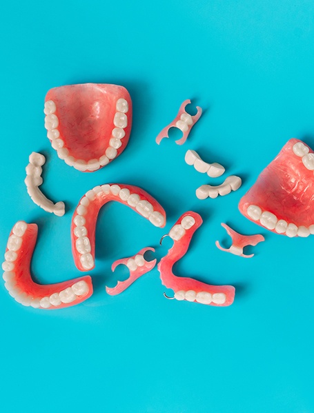
POLYGON ((32 152, 29 157, 30 163, 26 166, 26 188, 28 195, 36 205, 45 210, 46 212, 52 212, 57 216, 62 216, 66 212, 66 208, 63 202, 53 203, 38 188, 42 183, 41 178, 42 168, 41 166, 46 162, 46 158, 43 154, 32 152))

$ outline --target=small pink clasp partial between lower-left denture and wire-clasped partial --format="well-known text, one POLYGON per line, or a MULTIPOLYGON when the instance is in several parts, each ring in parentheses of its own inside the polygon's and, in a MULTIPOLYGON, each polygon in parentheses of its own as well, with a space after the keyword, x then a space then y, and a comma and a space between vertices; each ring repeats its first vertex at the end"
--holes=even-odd
POLYGON ((137 252, 136 255, 128 258, 118 259, 112 264, 112 272, 115 271, 118 265, 126 265, 130 270, 130 276, 125 281, 118 281, 117 285, 114 288, 106 287, 106 292, 108 292, 108 294, 120 294, 120 292, 126 290, 128 287, 130 287, 131 284, 133 284, 137 279, 139 279, 140 276, 146 274, 150 270, 153 270, 157 263, 157 259, 154 259, 153 261, 146 261, 146 259, 144 259, 144 254, 146 251, 155 252, 155 249, 143 248, 141 251, 137 252))

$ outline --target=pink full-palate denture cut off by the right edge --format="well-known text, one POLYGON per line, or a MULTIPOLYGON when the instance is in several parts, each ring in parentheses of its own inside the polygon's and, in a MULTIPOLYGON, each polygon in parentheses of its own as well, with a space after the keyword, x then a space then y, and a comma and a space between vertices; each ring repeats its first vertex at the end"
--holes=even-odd
POLYGON ((276 234, 314 234, 313 171, 313 150, 291 139, 239 201, 240 212, 276 234))

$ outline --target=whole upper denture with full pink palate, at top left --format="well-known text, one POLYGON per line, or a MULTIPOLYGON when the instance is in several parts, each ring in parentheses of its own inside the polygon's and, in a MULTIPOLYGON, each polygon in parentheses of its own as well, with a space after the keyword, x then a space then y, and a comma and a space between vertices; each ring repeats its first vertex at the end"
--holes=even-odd
POLYGON ((83 172, 103 168, 126 148, 132 101, 123 86, 85 83, 50 89, 45 128, 52 148, 83 172))

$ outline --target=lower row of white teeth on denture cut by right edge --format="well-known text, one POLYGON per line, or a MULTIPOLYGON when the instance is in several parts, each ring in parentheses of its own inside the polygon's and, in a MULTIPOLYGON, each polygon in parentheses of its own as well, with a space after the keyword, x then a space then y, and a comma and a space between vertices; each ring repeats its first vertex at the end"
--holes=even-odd
POLYGON ((277 216, 272 212, 262 211, 257 205, 249 205, 246 210, 248 216, 253 219, 253 221, 259 221, 263 227, 268 230, 275 230, 277 234, 286 234, 286 236, 302 236, 306 237, 310 234, 314 234, 314 225, 306 227, 305 225, 300 225, 299 227, 294 223, 288 223, 284 219, 277 219, 277 216))

